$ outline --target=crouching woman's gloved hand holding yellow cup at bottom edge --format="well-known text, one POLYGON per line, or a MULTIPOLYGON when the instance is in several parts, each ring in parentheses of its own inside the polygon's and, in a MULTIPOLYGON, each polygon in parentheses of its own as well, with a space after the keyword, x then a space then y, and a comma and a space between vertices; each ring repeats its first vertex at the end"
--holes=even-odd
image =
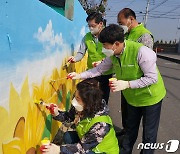
POLYGON ((45 145, 44 148, 41 149, 42 154, 60 154, 60 146, 55 144, 45 145))

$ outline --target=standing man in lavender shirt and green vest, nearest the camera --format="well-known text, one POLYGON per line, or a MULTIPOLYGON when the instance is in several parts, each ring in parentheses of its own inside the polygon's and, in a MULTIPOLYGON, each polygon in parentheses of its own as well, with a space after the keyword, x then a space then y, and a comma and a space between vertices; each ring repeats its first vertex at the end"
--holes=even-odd
MULTIPOLYGON (((141 43, 124 40, 124 30, 116 24, 104 28, 99 41, 107 58, 97 67, 69 73, 72 79, 98 76, 114 68, 116 79, 110 82, 113 92, 122 91, 127 101, 127 130, 121 145, 121 154, 131 154, 136 142, 140 122, 143 122, 143 145, 156 143, 162 100, 166 89, 156 65, 156 53, 141 43)), ((153 154, 153 149, 142 149, 153 154)))

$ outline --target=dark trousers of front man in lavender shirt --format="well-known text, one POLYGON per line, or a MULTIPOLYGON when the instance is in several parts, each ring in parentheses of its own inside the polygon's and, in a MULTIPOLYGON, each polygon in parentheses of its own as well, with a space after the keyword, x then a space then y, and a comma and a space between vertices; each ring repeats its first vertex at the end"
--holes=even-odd
MULTIPOLYGON (((134 107, 127 104, 126 133, 122 142, 121 154, 131 154, 134 143, 136 142, 141 118, 143 122, 142 143, 156 143, 159 127, 161 104, 152 106, 134 107)), ((142 150, 141 154, 153 154, 154 150, 142 150)))

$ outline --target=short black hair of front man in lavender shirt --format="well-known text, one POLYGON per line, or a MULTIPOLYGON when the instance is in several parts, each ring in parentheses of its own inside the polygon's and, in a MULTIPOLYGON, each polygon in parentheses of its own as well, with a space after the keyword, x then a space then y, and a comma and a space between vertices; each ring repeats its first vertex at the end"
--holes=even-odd
POLYGON ((111 24, 101 31, 98 39, 101 43, 114 44, 116 41, 123 43, 124 30, 119 25, 111 24))

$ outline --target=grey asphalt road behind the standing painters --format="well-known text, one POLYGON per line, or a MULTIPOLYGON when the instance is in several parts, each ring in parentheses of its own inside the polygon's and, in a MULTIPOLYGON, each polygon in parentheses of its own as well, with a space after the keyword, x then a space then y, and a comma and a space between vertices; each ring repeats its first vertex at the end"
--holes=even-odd
MULTIPOLYGON (((163 100, 161 120, 159 125, 157 143, 166 143, 169 140, 180 141, 180 64, 158 58, 158 68, 163 76, 167 95, 163 100)), ((111 93, 109 101, 110 115, 114 125, 121 128, 120 93, 111 93)), ((138 143, 141 143, 142 127, 134 145, 133 154, 138 154, 138 143)), ((162 150, 156 150, 155 154, 166 154, 165 146, 162 150)), ((180 154, 179 149, 175 154, 180 154)))

